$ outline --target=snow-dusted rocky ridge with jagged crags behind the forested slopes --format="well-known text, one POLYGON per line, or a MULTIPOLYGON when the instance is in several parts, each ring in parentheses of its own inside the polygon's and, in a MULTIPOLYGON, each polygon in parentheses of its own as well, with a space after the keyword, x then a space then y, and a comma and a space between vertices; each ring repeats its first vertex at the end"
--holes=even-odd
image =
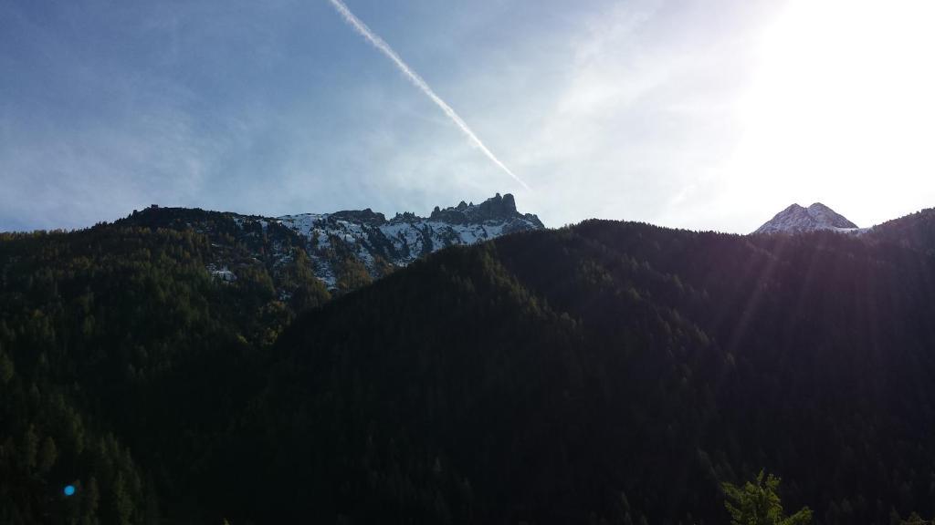
POLYGON ((510 193, 479 205, 436 206, 427 218, 402 213, 387 220, 370 208, 269 218, 151 206, 118 224, 207 234, 214 248, 207 266, 212 275, 232 281, 242 270, 261 265, 286 299, 294 290, 278 276, 294 263, 297 251, 328 291, 341 293, 441 248, 544 228, 537 216, 516 210, 510 193))

